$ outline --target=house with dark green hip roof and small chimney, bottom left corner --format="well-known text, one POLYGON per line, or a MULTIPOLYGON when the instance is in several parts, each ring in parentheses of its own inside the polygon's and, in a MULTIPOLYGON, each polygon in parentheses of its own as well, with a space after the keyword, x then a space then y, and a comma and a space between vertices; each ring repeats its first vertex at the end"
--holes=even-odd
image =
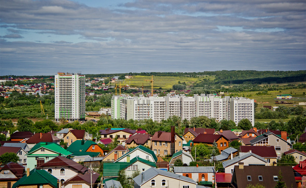
POLYGON ((18 180, 12 188, 58 188, 57 178, 45 170, 27 168, 27 175, 18 180))

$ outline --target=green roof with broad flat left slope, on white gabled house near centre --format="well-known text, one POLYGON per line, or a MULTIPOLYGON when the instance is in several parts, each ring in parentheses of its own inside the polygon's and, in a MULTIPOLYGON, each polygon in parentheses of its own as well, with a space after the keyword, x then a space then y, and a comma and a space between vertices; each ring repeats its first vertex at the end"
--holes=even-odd
POLYGON ((103 163, 103 176, 118 176, 119 171, 129 167, 130 165, 134 164, 137 161, 141 161, 146 163, 152 167, 155 167, 155 163, 149 160, 145 160, 140 157, 134 157, 130 160, 130 162, 114 162, 114 163, 103 163))

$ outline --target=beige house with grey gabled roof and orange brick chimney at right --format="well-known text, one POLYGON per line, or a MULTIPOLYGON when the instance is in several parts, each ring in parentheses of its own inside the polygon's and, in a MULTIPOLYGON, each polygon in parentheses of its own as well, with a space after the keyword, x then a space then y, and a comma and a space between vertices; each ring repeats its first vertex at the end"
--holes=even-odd
POLYGON ((287 132, 282 131, 281 137, 267 131, 250 141, 252 146, 274 146, 277 157, 280 158, 284 152, 292 149, 292 144, 287 142, 287 132))

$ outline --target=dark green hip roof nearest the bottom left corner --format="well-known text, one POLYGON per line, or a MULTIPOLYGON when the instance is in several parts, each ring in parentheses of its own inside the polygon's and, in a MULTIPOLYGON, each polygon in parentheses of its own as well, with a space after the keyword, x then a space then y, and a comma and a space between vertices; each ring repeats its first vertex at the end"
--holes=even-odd
POLYGON ((29 186, 29 185, 41 185, 41 184, 49 184, 53 188, 57 188, 57 178, 49 174, 45 170, 37 170, 33 169, 30 172, 30 176, 24 176, 20 180, 18 180, 12 188, 16 188, 18 186, 29 186))

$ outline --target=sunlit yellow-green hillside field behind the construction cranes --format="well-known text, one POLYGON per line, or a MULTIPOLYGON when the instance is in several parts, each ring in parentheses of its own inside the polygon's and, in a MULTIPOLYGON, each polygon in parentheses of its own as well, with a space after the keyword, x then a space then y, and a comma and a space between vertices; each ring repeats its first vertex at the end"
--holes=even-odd
MULTIPOLYGON (((174 84, 178 84, 180 81, 181 83, 185 82, 187 88, 192 86, 195 83, 201 82, 203 79, 214 80, 213 76, 203 76, 198 78, 191 78, 191 77, 175 77, 175 76, 154 76, 154 89, 162 88, 163 90, 172 89, 174 84)), ((133 76, 131 79, 126 80, 126 84, 131 83, 132 88, 141 88, 142 84, 144 84, 144 88, 149 90, 151 89, 151 76, 133 76)))

